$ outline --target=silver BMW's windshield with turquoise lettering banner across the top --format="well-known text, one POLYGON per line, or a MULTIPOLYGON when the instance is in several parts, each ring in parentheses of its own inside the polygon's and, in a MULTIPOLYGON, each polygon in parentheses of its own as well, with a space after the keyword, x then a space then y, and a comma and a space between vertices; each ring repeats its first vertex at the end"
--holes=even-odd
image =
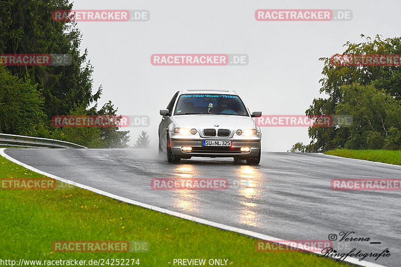
POLYGON ((221 94, 180 95, 174 115, 188 114, 248 116, 247 109, 239 96, 221 94))

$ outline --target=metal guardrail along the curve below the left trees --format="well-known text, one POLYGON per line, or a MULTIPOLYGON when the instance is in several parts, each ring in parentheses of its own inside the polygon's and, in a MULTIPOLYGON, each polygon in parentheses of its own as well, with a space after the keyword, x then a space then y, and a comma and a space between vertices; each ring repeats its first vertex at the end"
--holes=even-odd
POLYGON ((55 139, 14 135, 14 134, 3 134, 3 133, 0 133, 0 146, 87 148, 85 146, 55 139))

